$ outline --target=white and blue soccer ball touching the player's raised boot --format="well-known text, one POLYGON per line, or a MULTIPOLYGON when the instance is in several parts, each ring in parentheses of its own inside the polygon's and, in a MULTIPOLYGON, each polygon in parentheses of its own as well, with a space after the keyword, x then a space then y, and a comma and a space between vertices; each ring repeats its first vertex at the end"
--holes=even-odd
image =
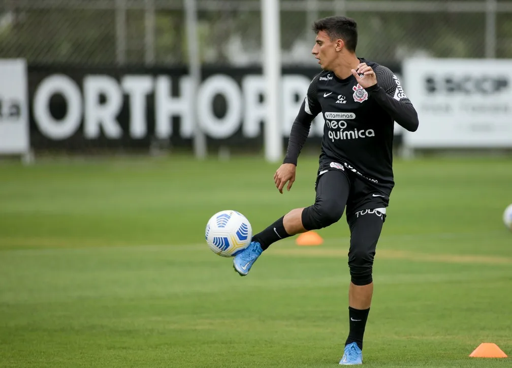
POLYGON ((233 257, 249 246, 251 224, 237 211, 221 211, 211 216, 206 224, 206 242, 222 257, 233 257))

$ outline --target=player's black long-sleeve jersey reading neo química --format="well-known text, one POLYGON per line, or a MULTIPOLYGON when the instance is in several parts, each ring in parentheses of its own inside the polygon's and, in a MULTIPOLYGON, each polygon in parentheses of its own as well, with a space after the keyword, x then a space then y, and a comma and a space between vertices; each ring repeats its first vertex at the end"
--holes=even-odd
POLYGON ((316 75, 293 122, 283 163, 297 165, 311 122, 322 112, 325 125, 319 170, 350 170, 389 196, 394 186, 394 121, 415 131, 418 115, 391 70, 360 60, 372 67, 377 84, 364 89, 353 75, 346 79, 328 71, 316 75))

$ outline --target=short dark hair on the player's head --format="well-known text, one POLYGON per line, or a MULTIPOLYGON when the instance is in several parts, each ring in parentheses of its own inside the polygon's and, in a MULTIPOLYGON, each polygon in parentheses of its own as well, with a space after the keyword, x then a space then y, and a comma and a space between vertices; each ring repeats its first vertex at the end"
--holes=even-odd
POLYGON ((355 52, 357 46, 357 23, 354 19, 346 16, 328 16, 322 18, 313 24, 313 31, 316 34, 325 31, 331 40, 337 38, 343 39, 345 47, 351 52, 355 52))

